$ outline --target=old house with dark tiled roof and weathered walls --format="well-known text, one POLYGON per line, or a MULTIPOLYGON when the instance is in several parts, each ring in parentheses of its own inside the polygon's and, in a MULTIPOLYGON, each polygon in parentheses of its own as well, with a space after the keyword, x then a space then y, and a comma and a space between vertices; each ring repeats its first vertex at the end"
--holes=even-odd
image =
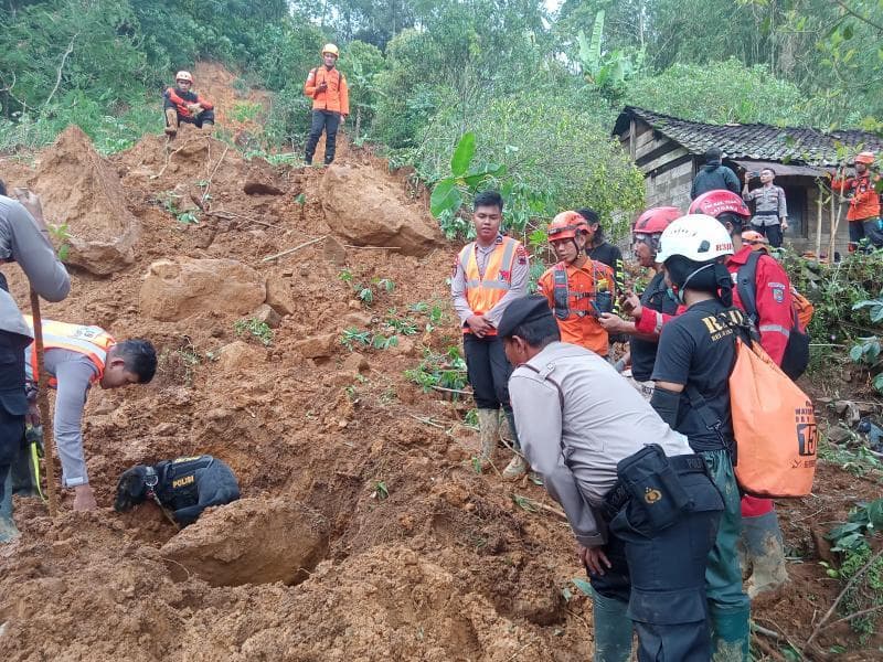
MULTIPOLYGON (((848 237, 845 210, 836 201, 832 207, 827 189, 827 172, 837 167, 843 153, 859 149, 883 151, 883 138, 858 130, 821 131, 809 127, 775 127, 762 124, 711 125, 689 121, 635 106, 626 106, 614 127, 645 174, 647 206, 690 206, 690 186, 704 164, 711 147, 724 151, 724 166, 742 180, 748 172, 773 168, 776 184, 785 190, 788 203, 786 243, 798 250, 827 253, 831 221, 840 223, 834 249, 844 252, 848 237), (844 149, 845 148, 845 149, 844 149)), ((759 185, 755 180, 752 186, 759 185)))

